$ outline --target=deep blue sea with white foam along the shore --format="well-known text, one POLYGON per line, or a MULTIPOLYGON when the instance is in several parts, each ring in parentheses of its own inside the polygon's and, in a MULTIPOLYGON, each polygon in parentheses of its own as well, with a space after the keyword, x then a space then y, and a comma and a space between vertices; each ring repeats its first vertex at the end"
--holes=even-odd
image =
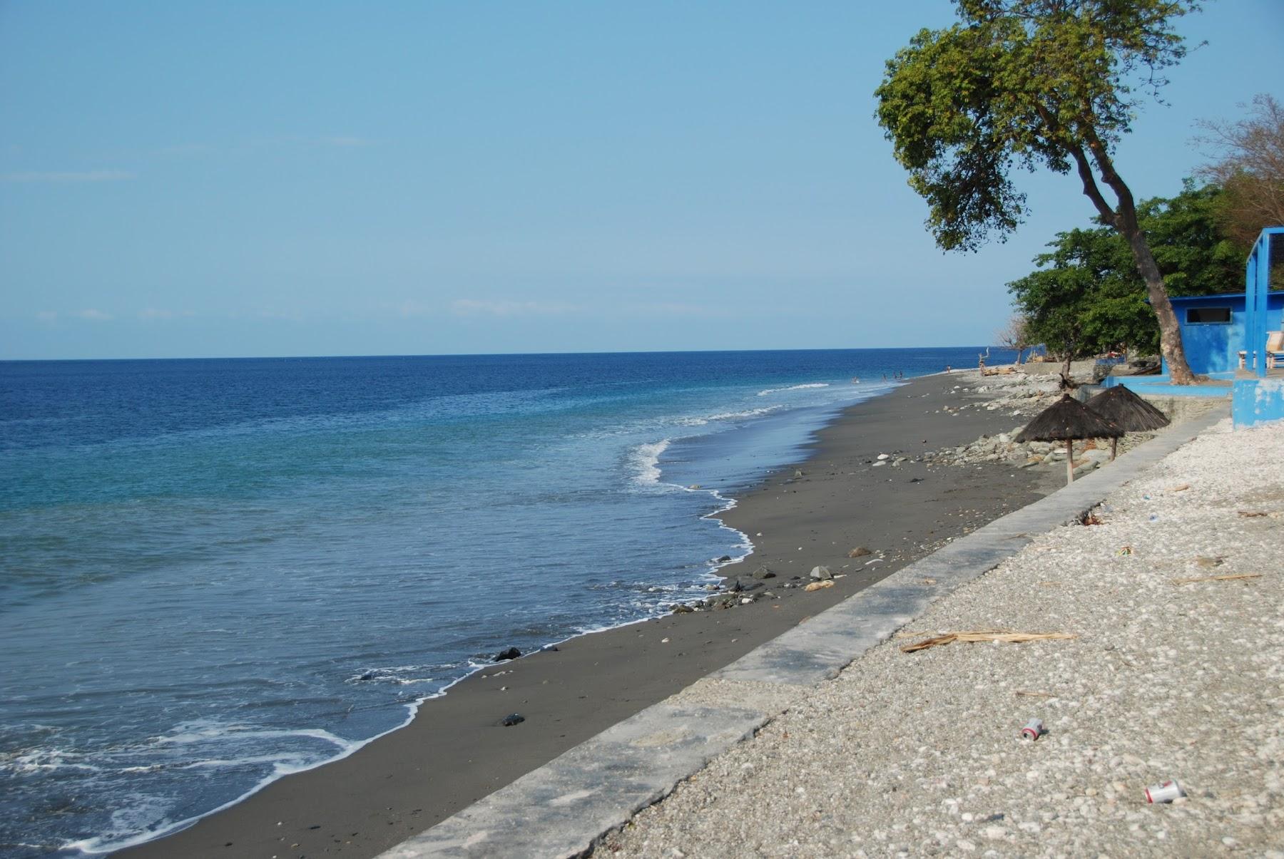
POLYGON ((145 840, 701 593, 737 487, 976 352, 0 363, 0 855, 145 840))

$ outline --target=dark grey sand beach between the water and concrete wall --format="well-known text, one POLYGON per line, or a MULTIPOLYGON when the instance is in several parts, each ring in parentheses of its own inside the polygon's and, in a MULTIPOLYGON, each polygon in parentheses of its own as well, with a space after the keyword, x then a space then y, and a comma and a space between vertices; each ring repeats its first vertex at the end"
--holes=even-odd
POLYGON ((774 578, 750 593, 774 598, 582 636, 555 652, 497 664, 349 758, 288 776, 117 855, 374 856, 945 541, 1058 488, 1064 478, 1053 467, 913 461, 1025 422, 1009 410, 944 411, 976 402, 954 390, 959 384, 957 375, 921 377, 853 406, 818 434, 805 461, 741 493, 723 519, 755 550, 722 571, 752 583, 754 570, 769 568, 774 578), (874 465, 878 455, 887 455, 882 465, 874 465), (907 461, 892 465, 899 457, 907 461), (855 547, 871 553, 851 559, 855 547), (832 570, 835 586, 806 592, 817 565, 832 570), (525 720, 503 727, 511 713, 525 720))

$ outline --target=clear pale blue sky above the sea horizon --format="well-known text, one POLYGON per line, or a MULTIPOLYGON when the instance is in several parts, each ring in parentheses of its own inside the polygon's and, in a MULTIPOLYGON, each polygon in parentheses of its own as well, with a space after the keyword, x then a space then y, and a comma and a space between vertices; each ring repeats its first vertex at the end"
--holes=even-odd
MULTIPOLYGON (((944 1, 0 0, 0 358, 977 344, 1090 204, 942 254, 873 119, 944 1)), ((1118 153, 1284 99, 1284 4, 1184 22, 1118 153)))

